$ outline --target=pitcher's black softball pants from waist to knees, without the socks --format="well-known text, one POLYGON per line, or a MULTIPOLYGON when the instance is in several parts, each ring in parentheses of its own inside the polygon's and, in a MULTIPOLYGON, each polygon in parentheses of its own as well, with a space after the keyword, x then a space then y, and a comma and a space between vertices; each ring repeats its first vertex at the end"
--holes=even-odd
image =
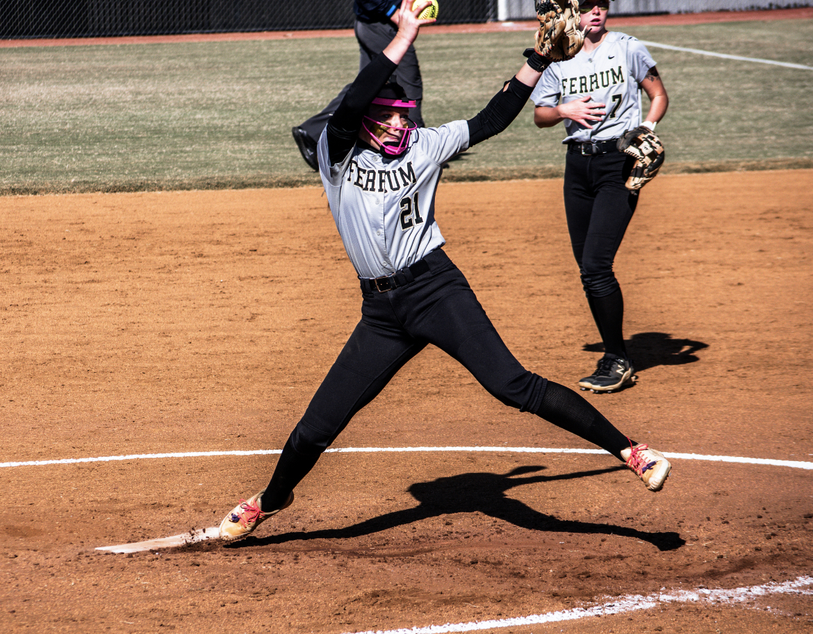
POLYGON ((491 324, 463 273, 442 250, 425 258, 429 272, 387 293, 363 293, 362 319, 316 391, 293 445, 324 451, 407 361, 437 345, 494 397, 534 410, 545 380, 525 370, 491 324))

